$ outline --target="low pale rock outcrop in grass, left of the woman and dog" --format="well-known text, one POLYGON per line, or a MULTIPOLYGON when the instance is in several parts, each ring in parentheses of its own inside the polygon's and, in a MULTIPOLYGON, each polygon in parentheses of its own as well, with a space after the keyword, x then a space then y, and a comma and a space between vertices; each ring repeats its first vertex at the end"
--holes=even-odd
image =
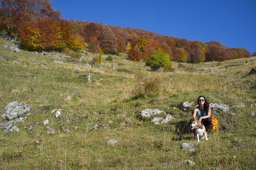
POLYGON ((138 118, 143 121, 151 121, 156 125, 168 123, 174 119, 171 115, 159 109, 145 109, 138 114, 138 118))

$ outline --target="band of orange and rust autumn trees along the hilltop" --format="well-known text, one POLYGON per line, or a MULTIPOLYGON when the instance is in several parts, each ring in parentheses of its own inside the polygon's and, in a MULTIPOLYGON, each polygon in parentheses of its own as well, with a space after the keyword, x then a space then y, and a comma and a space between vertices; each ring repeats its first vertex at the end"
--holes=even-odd
POLYGON ((22 47, 28 50, 80 50, 87 44, 91 52, 127 52, 133 61, 148 59, 161 51, 172 61, 188 63, 251 56, 244 48, 225 47, 220 42, 203 43, 129 27, 63 20, 60 11, 53 10, 47 0, 0 0, 0 3, 0 31, 18 36, 22 47))

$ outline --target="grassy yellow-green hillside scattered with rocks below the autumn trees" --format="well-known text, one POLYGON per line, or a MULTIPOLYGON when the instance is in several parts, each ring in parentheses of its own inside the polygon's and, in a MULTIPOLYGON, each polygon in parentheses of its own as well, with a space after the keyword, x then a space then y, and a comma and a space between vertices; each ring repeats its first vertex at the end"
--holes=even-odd
POLYGON ((0 61, 0 114, 14 101, 27 102, 33 109, 27 120, 17 123, 20 132, 0 131, 0 169, 256 168, 256 118, 250 115, 255 111, 250 104, 256 103, 256 75, 248 75, 256 58, 184 63, 184 68, 172 62, 175 73, 152 72, 143 62, 125 60, 126 54, 113 56, 113 61, 103 56, 102 65, 86 67, 93 54, 82 54, 83 61, 78 63, 25 50, 11 52, 2 47, 4 41, 0 38, 0 56, 6 58, 0 61), (219 71, 195 71, 200 68, 219 71), (143 91, 138 89, 141 77, 158 83, 152 93, 136 98, 143 91), (191 118, 191 111, 177 106, 199 95, 229 105, 234 114, 216 115, 219 130, 209 134, 209 141, 197 144, 191 134, 176 129, 191 118), (246 107, 231 107, 240 103, 246 107), (140 122, 136 115, 146 108, 164 110, 175 120, 164 125, 140 122), (58 119, 53 109, 62 109, 58 119), (46 119, 55 134, 47 134, 42 124, 46 119), (95 124, 99 129, 93 129, 95 124), (33 129, 27 131, 30 125, 33 129), (118 143, 106 145, 109 139, 118 143), (196 144, 196 151, 180 150, 181 143, 196 144), (196 165, 186 165, 185 160, 196 165))

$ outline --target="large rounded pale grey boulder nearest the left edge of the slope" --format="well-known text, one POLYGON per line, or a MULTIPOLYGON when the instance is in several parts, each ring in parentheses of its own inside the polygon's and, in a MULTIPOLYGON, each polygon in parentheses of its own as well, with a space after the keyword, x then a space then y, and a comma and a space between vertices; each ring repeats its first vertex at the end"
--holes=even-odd
POLYGON ((26 102, 12 102, 4 108, 3 120, 12 120, 24 114, 25 112, 30 111, 31 105, 26 102))

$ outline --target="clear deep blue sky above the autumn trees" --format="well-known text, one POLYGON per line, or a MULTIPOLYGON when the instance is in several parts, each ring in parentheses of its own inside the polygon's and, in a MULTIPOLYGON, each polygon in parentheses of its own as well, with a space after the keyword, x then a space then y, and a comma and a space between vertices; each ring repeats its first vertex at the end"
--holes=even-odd
POLYGON ((52 0, 52 6, 63 19, 218 41, 256 52, 256 0, 52 0))

